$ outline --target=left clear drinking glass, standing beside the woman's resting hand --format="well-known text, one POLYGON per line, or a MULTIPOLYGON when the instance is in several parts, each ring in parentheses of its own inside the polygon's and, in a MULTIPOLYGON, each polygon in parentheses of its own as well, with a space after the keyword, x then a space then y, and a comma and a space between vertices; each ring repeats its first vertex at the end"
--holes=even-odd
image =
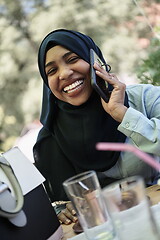
POLYGON ((76 209, 86 238, 89 240, 116 240, 96 172, 88 171, 78 174, 67 179, 63 186, 76 209))

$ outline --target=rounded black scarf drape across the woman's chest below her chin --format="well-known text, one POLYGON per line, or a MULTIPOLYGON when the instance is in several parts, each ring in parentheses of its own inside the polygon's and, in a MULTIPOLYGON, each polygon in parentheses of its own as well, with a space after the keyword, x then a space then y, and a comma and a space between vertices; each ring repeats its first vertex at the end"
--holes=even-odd
POLYGON ((117 131, 118 122, 102 107, 99 95, 93 91, 81 106, 57 101, 54 124, 57 143, 72 164, 81 171, 105 171, 118 160, 119 152, 97 151, 97 142, 123 142, 125 136, 117 131))

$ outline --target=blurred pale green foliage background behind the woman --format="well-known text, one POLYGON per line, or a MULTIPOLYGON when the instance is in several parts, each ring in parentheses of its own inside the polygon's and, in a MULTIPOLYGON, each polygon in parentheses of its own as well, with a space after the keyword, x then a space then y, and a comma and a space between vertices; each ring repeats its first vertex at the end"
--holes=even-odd
POLYGON ((37 52, 57 28, 91 36, 126 84, 160 85, 160 0, 0 0, 1 152, 33 129, 30 139, 36 140, 42 98, 37 52))

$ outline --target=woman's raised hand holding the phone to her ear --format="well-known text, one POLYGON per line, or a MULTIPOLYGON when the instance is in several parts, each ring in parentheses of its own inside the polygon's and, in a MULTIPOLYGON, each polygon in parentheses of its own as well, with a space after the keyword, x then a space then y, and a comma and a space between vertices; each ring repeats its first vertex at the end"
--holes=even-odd
POLYGON ((97 63, 94 64, 94 68, 99 77, 103 78, 106 82, 113 86, 109 102, 106 103, 103 99, 101 99, 104 110, 116 121, 122 122, 125 112, 127 111, 127 107, 124 106, 126 85, 120 82, 115 74, 108 73, 97 63))

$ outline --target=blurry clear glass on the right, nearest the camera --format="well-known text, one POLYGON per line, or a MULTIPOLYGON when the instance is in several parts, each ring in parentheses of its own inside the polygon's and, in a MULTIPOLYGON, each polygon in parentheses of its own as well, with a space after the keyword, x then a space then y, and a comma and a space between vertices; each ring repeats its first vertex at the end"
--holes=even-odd
POLYGON ((143 178, 134 176, 110 184, 102 194, 121 240, 160 239, 143 178))

